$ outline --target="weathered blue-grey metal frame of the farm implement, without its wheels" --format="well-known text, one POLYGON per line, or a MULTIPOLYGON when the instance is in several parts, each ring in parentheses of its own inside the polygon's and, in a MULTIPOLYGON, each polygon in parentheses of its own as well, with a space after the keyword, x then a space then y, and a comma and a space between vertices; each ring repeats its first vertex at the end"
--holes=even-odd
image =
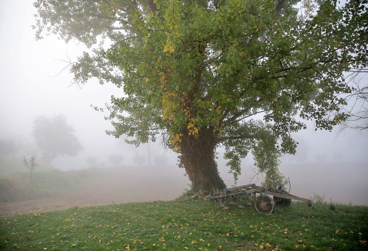
POLYGON ((229 203, 233 204, 233 205, 238 205, 239 208, 244 208, 244 206, 242 206, 240 204, 240 202, 247 202, 247 205, 254 205, 251 202, 255 203, 255 198, 250 198, 250 195, 256 195, 256 193, 261 194, 267 194, 267 195, 272 195, 272 196, 276 196, 276 197, 281 197, 284 199, 295 199, 298 201, 304 201, 308 203, 308 206, 311 206, 312 208, 314 208, 314 206, 312 205, 312 201, 310 199, 306 199, 306 198, 301 198, 298 197, 296 195, 292 195, 292 194, 288 194, 287 192, 282 192, 282 191, 275 191, 272 189, 272 187, 270 185, 266 185, 263 187, 260 187, 258 185, 255 184, 248 184, 248 185, 242 185, 240 187, 232 187, 232 188, 226 188, 225 190, 223 190, 219 195, 214 195, 210 198, 208 198, 207 200, 210 200, 212 202, 216 201, 220 201, 220 206, 222 207, 226 207, 223 204, 224 198, 229 198, 229 203), (246 196, 246 201, 244 201, 243 199, 241 199, 241 196, 246 196), (234 198, 237 198, 237 203, 235 203, 234 198))

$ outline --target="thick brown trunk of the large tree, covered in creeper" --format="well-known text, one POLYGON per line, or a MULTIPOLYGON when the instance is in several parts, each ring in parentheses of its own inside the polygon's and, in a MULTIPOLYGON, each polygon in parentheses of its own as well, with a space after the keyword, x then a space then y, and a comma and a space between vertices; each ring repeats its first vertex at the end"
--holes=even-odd
MULTIPOLYGON (((184 129, 183 135, 188 135, 188 131, 184 129)), ((192 183, 192 191, 218 191, 226 188, 215 161, 215 138, 213 129, 205 127, 199 130, 197 137, 182 137, 179 166, 185 168, 192 183)))

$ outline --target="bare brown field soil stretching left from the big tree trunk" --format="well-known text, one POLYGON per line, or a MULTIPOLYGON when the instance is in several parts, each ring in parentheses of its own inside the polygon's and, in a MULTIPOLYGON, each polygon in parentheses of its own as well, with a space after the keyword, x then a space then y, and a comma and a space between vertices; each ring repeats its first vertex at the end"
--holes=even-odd
MULTIPOLYGON (((154 167, 153 167, 154 168, 154 167)), ((0 204, 0 216, 127 202, 168 201, 188 187, 188 178, 155 170, 117 170, 98 184, 74 194, 0 204)))

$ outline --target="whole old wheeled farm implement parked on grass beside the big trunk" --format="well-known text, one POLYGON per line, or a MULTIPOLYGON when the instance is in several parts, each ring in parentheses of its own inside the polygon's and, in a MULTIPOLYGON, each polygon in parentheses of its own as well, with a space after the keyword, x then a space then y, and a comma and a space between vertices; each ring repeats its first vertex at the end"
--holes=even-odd
POLYGON ((220 206, 226 208, 224 202, 228 202, 232 205, 237 205, 239 208, 244 208, 241 202, 250 206, 255 206, 258 212, 272 213, 276 206, 290 206, 291 200, 296 199, 298 201, 304 201, 308 203, 308 206, 312 205, 310 199, 301 198, 287 191, 283 190, 283 184, 277 184, 277 190, 272 189, 270 185, 260 187, 255 184, 242 185, 240 187, 227 188, 220 192, 213 192, 207 200, 220 202, 220 206), (257 193, 259 194, 258 196, 257 193), (271 198, 270 196, 273 196, 271 198))

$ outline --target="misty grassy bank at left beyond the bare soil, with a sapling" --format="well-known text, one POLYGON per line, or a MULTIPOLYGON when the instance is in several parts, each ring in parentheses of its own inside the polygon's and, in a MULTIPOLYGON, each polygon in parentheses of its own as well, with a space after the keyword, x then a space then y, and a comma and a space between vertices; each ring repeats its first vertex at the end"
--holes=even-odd
POLYGON ((86 169, 60 173, 56 170, 34 170, 32 183, 30 172, 0 176, 0 202, 25 201, 69 194, 99 182, 102 170, 86 169))

